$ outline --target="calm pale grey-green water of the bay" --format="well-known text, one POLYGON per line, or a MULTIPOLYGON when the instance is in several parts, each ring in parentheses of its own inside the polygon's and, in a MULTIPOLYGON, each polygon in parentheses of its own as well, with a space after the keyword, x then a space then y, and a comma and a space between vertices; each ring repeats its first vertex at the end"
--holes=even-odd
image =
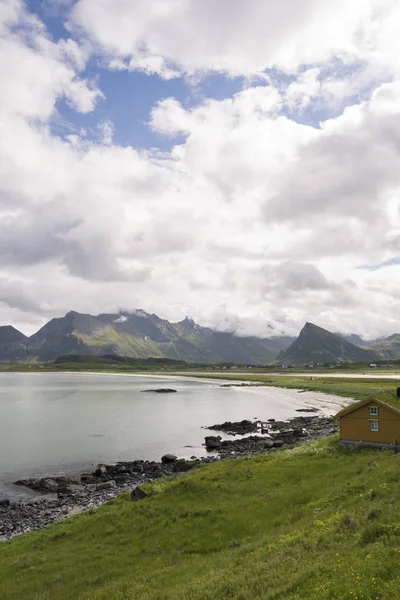
MULTIPOLYGON (((19 478, 98 462, 205 454, 204 425, 287 418, 337 399, 278 388, 222 388, 221 382, 123 375, 0 373, 0 498, 26 496, 19 478), (176 394, 142 393, 172 387, 176 394), (191 446, 191 447, 187 447, 191 446)), ((342 402, 342 399, 340 399, 342 402)))

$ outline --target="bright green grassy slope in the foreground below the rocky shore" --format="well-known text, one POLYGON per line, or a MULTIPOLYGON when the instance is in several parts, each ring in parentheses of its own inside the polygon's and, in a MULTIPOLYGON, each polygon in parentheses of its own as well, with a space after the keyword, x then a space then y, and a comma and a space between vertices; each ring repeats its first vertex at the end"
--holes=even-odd
POLYGON ((218 462, 0 545, 2 600, 396 600, 400 457, 337 436, 218 462))

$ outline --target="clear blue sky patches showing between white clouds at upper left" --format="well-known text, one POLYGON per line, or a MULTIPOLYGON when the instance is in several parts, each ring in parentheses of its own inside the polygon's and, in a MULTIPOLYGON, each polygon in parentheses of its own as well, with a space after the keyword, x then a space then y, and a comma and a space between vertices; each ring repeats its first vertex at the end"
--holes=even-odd
MULTIPOLYGON (((27 6, 46 25, 48 34, 54 41, 68 39, 71 33, 64 26, 68 18, 68 0, 59 6, 29 0, 27 6)), ((84 128, 89 139, 98 136, 98 126, 107 120, 114 125, 113 141, 121 146, 135 148, 156 147, 168 149, 176 140, 157 135, 147 122, 150 112, 157 102, 168 97, 176 98, 182 106, 190 108, 200 104, 204 98, 223 100, 243 89, 243 77, 226 77, 220 74, 207 74, 194 83, 184 77, 165 80, 158 75, 139 71, 110 70, 100 57, 89 61, 82 77, 94 79, 104 94, 91 113, 80 114, 60 100, 57 104, 59 118, 53 122, 57 135, 68 135, 74 129, 84 128)))

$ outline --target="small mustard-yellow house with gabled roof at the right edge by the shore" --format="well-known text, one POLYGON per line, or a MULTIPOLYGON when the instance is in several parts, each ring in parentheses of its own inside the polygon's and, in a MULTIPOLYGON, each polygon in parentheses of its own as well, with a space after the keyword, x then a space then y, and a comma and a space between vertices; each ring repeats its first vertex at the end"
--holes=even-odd
POLYGON ((339 419, 340 441, 368 446, 396 446, 400 444, 400 402, 396 407, 386 402, 367 398, 341 410, 339 419))

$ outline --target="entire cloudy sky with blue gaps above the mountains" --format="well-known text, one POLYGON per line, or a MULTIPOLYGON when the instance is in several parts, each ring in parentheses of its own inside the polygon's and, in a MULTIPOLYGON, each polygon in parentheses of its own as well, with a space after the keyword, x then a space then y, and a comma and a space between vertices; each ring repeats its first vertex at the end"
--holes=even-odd
POLYGON ((399 0, 0 0, 0 324, 400 331, 399 0))

